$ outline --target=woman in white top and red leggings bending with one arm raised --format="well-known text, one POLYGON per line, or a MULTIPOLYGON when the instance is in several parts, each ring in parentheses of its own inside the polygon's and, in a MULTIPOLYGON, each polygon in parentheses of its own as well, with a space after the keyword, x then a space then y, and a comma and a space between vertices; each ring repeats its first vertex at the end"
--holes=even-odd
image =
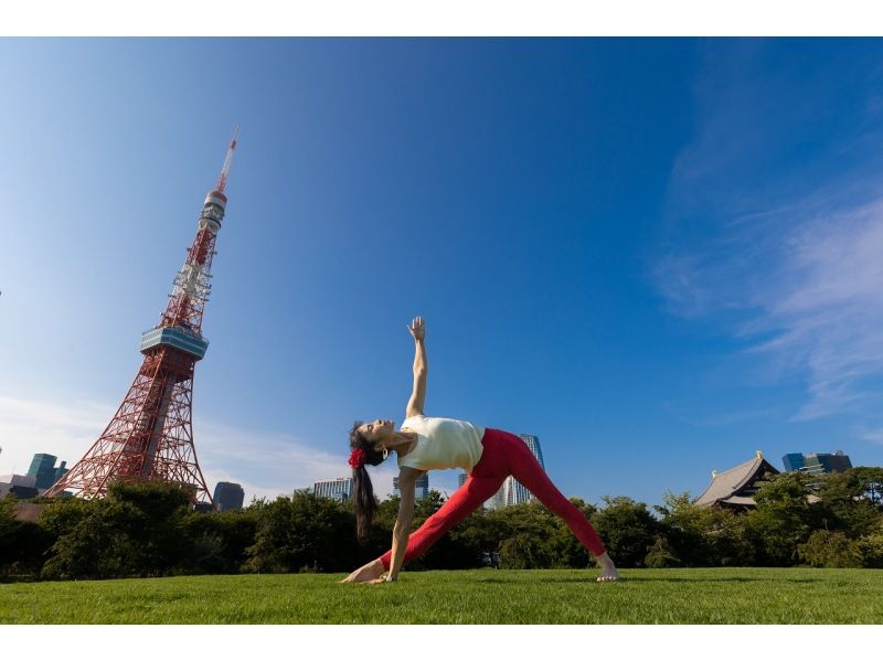
POLYGON ((414 391, 407 402, 406 419, 395 430, 392 419, 357 422, 350 432, 350 466, 355 490, 355 521, 359 537, 371 528, 376 503, 365 465, 380 465, 390 451, 398 458, 401 503, 393 530, 392 550, 353 571, 343 582, 394 582, 402 565, 424 554, 446 531, 464 520, 496 493, 510 475, 518 479, 550 511, 564 519, 573 533, 600 566, 598 582, 619 579, 613 560, 586 517, 550 481, 539 461, 517 435, 483 428, 469 422, 426 417, 426 329, 417 317, 408 327, 414 337, 414 391), (428 470, 462 468, 466 483, 411 533, 417 477, 428 470))

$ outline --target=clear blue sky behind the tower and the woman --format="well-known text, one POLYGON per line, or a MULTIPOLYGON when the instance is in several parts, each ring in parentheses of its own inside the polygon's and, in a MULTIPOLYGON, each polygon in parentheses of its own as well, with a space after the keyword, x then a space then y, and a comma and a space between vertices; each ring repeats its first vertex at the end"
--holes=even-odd
POLYGON ((427 414, 538 435, 568 496, 699 494, 756 449, 881 465, 881 51, 2 40, 0 473, 107 424, 236 124, 210 486, 347 475, 352 421, 403 416, 416 315, 427 414))

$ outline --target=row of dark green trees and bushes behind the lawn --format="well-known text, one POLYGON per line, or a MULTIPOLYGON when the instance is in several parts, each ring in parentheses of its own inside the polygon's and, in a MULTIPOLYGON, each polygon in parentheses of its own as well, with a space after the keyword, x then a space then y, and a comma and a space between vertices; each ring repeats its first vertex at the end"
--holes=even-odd
MULTIPOLYGON (((360 545, 351 503, 302 491, 223 513, 192 510, 188 494, 167 483, 115 483, 100 500, 44 501, 38 520, 24 522, 17 500, 0 500, 0 579, 349 572, 389 549, 398 510, 398 498, 380 502, 360 545)), ((624 496, 598 507, 571 501, 620 567, 883 567, 883 468, 775 475, 747 511, 699 509, 687 492, 667 492, 652 508, 624 496)), ((419 500, 414 528, 443 503, 437 491, 419 500)), ((489 556, 501 568, 593 564, 563 521, 532 502, 477 511, 406 569, 475 568, 489 556)))

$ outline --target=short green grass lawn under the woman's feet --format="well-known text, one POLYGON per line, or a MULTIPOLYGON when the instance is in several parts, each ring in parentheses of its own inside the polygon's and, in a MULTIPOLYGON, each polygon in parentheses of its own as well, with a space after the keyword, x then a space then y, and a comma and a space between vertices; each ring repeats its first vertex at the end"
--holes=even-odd
POLYGON ((0 585, 0 624, 883 624, 883 571, 429 571, 0 585))

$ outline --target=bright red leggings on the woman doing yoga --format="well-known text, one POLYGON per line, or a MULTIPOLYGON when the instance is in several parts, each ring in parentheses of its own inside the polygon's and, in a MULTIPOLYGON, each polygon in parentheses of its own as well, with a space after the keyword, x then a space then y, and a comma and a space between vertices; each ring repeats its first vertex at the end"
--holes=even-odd
MULTIPOLYGON (((481 445, 485 447, 481 458, 466 483, 408 536, 405 563, 423 555, 445 532, 489 500, 510 475, 536 496, 546 509, 564 519, 574 535, 593 555, 604 554, 604 544, 595 528, 555 488, 524 440, 511 433, 488 428, 481 438, 481 445)), ((392 550, 380 557, 380 561, 389 571, 392 550)))

